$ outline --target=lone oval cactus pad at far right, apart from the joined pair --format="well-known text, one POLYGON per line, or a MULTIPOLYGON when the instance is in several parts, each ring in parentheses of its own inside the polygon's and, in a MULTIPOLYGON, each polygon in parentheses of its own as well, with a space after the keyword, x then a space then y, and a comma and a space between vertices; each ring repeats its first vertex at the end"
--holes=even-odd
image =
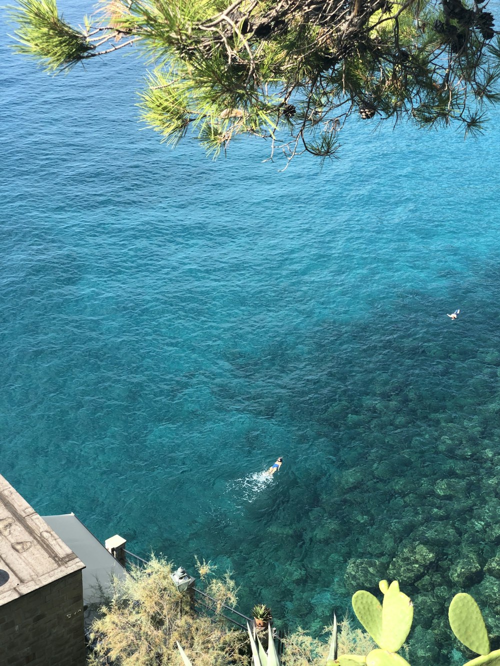
MULTIPOLYGON (((489 638, 483 615, 470 594, 455 594, 448 609, 451 631, 466 647, 479 655, 489 655, 489 638)), ((476 659, 469 664, 476 666, 476 659)), ((477 662, 489 664, 489 661, 477 662)), ((491 662, 496 663, 496 662, 491 662)), ((500 664, 500 661, 498 662, 500 664)))

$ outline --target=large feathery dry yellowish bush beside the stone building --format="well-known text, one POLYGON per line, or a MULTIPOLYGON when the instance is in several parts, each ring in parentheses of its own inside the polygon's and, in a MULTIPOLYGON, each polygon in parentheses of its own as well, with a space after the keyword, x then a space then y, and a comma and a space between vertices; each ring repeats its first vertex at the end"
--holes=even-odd
MULTIPOLYGON (((115 581, 111 603, 93 623, 98 642, 88 666, 180 665, 176 641, 195 666, 247 662, 246 634, 196 613, 188 595, 177 591, 172 571, 171 563, 152 557, 146 567, 115 581)), ((227 579, 222 582, 227 584, 227 579)))

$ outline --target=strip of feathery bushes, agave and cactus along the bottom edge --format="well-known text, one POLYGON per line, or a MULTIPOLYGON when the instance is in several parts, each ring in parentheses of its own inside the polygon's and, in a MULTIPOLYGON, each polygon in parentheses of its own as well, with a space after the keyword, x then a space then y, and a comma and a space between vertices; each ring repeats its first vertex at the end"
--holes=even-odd
MULTIPOLYGON (((142 567, 131 567, 124 580, 115 579, 111 598, 97 609, 87 665, 160 666, 179 664, 181 659, 186 666, 249 666, 251 662, 253 666, 278 666, 280 661, 283 666, 409 666, 409 662, 424 666, 439 661, 429 659, 419 627, 411 631, 413 602, 400 591, 398 581, 389 585, 385 580, 378 583, 382 604, 367 590, 353 595, 354 615, 363 628, 356 626, 355 617, 349 613, 339 623, 338 632, 334 619, 333 625, 323 629, 323 637, 312 637, 297 627, 279 639, 280 660, 271 626, 260 632, 257 627, 253 630, 254 639, 259 639, 258 648, 249 625, 248 634, 228 627, 219 613, 227 603, 237 605, 235 582, 229 572, 217 577, 210 563, 197 562, 205 592, 213 597, 209 613, 197 604, 189 589, 179 591, 176 587, 172 563, 151 556, 142 567), (264 640, 267 633, 269 643, 264 640), (262 645, 271 645, 267 657, 262 645)), ((420 610, 415 608, 416 613, 420 610)), ((271 609, 264 604, 256 605, 253 615, 266 617, 271 623, 271 609)), ((456 594, 447 616, 443 619, 449 621, 449 637, 454 634, 458 642, 448 641, 447 649, 443 649, 447 661, 443 663, 449 663, 452 649, 458 647, 469 657, 473 652, 483 655, 467 662, 470 666, 498 663, 499 637, 493 635, 490 643, 473 597, 456 594)))

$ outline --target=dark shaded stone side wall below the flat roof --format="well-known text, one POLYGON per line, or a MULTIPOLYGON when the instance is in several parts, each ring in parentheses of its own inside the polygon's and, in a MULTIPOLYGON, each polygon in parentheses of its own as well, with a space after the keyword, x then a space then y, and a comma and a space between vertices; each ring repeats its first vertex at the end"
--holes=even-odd
POLYGON ((84 666, 81 571, 0 606, 1 666, 84 666))

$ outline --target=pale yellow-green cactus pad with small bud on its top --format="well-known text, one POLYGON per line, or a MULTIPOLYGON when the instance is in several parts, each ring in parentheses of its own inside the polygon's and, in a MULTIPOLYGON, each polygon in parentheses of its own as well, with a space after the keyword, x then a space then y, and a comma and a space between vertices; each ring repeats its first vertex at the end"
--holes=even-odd
POLYGON ((403 592, 399 583, 393 581, 384 595, 382 605, 382 636, 377 641, 389 652, 397 652, 410 633, 413 622, 413 603, 403 592))

